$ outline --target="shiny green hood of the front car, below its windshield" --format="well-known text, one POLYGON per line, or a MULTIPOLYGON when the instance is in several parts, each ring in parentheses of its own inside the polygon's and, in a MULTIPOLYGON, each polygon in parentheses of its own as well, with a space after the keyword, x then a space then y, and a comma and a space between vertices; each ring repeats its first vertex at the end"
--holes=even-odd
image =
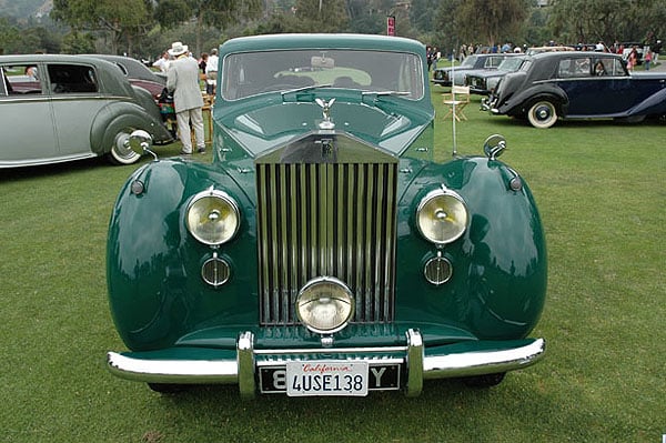
POLYGON ((215 120, 252 157, 289 143, 311 132, 347 133, 369 144, 400 155, 432 124, 434 112, 410 104, 402 98, 363 99, 360 102, 337 98, 330 109, 330 122, 314 100, 275 100, 266 105, 236 105, 235 111, 215 105, 215 120), (401 105, 402 104, 402 105, 401 105))

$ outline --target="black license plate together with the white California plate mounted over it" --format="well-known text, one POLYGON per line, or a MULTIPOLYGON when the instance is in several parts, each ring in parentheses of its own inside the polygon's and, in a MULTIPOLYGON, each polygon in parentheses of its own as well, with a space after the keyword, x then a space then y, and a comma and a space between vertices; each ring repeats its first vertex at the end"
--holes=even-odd
POLYGON ((286 393, 291 396, 360 396, 369 391, 398 390, 400 373, 400 363, 294 361, 260 366, 259 389, 264 394, 286 393))

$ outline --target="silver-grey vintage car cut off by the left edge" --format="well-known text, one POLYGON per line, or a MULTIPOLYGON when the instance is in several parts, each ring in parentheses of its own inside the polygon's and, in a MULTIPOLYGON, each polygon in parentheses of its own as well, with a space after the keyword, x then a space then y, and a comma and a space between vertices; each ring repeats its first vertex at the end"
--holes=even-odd
POLYGON ((129 164, 137 129, 155 142, 172 140, 148 91, 118 67, 80 56, 0 56, 0 168, 107 155, 129 164))

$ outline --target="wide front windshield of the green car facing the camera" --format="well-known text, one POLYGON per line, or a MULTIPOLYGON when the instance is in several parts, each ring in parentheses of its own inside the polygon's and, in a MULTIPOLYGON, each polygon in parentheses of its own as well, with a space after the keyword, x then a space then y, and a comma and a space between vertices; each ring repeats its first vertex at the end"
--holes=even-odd
POLYGON ((413 53, 363 50, 294 50, 230 54, 223 60, 222 95, 238 100, 299 88, 344 88, 424 94, 421 59, 413 53))

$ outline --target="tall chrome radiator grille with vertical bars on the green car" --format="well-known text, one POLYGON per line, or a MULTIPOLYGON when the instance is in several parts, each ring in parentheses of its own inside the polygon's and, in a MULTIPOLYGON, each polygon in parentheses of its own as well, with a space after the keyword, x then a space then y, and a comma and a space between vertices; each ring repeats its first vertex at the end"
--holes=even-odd
POLYGON ((354 322, 394 315, 397 163, 256 164, 262 325, 296 323, 299 290, 335 276, 354 322))

